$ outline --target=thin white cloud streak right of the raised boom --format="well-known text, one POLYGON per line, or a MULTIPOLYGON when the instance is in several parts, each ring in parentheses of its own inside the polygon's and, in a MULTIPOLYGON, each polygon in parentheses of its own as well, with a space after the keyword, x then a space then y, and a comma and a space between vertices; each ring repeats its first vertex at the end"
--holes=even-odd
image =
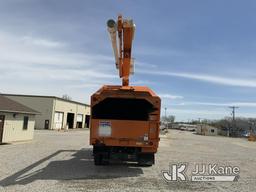
POLYGON ((217 75, 197 74, 197 73, 184 73, 184 72, 168 72, 168 71, 148 71, 139 70, 138 73, 151 74, 151 75, 165 75, 172 77, 181 77, 186 79, 193 79, 198 81, 210 82, 220 85, 240 86, 240 87, 256 87, 255 78, 235 78, 235 77, 221 77, 217 75))

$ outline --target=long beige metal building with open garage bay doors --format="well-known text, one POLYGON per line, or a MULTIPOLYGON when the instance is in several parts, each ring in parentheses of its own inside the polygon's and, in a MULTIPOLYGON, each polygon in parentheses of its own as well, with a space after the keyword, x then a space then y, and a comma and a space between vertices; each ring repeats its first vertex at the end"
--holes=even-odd
POLYGON ((90 106, 55 96, 2 94, 38 112, 36 129, 62 129, 89 127, 90 106))

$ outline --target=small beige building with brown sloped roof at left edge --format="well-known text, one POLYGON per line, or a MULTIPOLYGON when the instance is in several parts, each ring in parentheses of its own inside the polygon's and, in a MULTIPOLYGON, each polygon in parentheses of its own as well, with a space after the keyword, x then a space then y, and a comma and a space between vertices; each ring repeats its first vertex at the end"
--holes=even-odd
POLYGON ((33 139, 36 114, 35 110, 0 95, 0 143, 33 139))

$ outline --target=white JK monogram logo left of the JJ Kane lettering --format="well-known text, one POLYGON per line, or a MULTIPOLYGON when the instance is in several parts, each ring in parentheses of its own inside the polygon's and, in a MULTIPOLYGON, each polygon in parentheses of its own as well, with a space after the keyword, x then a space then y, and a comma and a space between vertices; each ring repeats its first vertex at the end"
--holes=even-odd
POLYGON ((187 169, 187 163, 170 164, 169 171, 162 171, 164 179, 168 181, 186 181, 185 171, 187 169))

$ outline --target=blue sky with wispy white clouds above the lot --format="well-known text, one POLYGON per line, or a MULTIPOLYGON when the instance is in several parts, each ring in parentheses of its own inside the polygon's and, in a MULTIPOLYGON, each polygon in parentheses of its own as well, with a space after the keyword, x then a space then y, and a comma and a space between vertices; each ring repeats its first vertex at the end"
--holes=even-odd
MULTIPOLYGON (((256 112, 255 1, 0 1, 0 92, 89 103, 120 84, 106 21, 134 19, 132 85, 151 87, 177 120, 256 112)), ((162 110, 164 112, 164 110, 162 110)))

